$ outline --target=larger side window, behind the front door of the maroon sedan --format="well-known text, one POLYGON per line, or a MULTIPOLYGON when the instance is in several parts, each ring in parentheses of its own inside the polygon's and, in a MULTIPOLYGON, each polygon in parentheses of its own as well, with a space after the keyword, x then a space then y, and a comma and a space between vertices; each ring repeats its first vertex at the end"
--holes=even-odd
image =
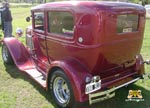
POLYGON ((74 21, 73 15, 69 12, 49 12, 48 32, 63 36, 73 36, 74 21))

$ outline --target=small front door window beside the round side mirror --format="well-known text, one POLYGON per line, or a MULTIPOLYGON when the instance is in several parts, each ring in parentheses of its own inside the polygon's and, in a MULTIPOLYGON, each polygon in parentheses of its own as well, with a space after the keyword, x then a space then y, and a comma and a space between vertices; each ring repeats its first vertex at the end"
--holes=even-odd
POLYGON ((34 29, 44 30, 44 13, 35 12, 34 13, 34 29))

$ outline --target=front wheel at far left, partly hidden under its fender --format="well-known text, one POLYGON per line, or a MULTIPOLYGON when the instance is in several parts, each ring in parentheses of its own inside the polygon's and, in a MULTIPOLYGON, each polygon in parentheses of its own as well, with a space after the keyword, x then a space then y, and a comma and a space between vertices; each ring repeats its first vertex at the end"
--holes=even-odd
POLYGON ((5 44, 2 46, 2 58, 4 63, 6 64, 13 64, 13 59, 11 57, 11 54, 5 44))

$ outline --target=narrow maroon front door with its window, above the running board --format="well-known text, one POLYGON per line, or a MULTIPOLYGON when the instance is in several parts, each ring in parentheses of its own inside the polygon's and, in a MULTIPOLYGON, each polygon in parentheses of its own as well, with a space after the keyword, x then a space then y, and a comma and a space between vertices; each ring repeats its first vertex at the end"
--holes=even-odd
POLYGON ((39 70, 46 72, 49 61, 47 59, 46 41, 45 41, 45 14, 44 11, 33 12, 33 56, 36 66, 39 70))

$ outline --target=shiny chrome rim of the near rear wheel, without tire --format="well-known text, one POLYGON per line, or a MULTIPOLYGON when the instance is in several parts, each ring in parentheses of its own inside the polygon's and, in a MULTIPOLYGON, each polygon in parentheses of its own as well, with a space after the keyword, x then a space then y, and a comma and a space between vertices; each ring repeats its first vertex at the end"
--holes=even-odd
POLYGON ((70 90, 66 81, 62 77, 55 78, 53 83, 53 92, 56 99, 61 104, 65 104, 70 100, 70 90))

